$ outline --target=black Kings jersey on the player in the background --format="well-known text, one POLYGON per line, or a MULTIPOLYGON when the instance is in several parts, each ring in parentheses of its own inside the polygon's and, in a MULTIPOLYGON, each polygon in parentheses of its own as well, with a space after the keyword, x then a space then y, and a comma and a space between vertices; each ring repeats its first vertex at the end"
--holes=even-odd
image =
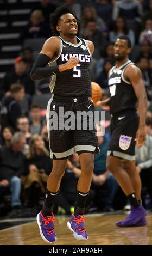
POLYGON ((109 72, 109 89, 110 89, 110 113, 115 114, 129 109, 136 109, 137 97, 132 84, 124 78, 126 66, 134 64, 130 60, 124 65, 113 68, 109 72))

